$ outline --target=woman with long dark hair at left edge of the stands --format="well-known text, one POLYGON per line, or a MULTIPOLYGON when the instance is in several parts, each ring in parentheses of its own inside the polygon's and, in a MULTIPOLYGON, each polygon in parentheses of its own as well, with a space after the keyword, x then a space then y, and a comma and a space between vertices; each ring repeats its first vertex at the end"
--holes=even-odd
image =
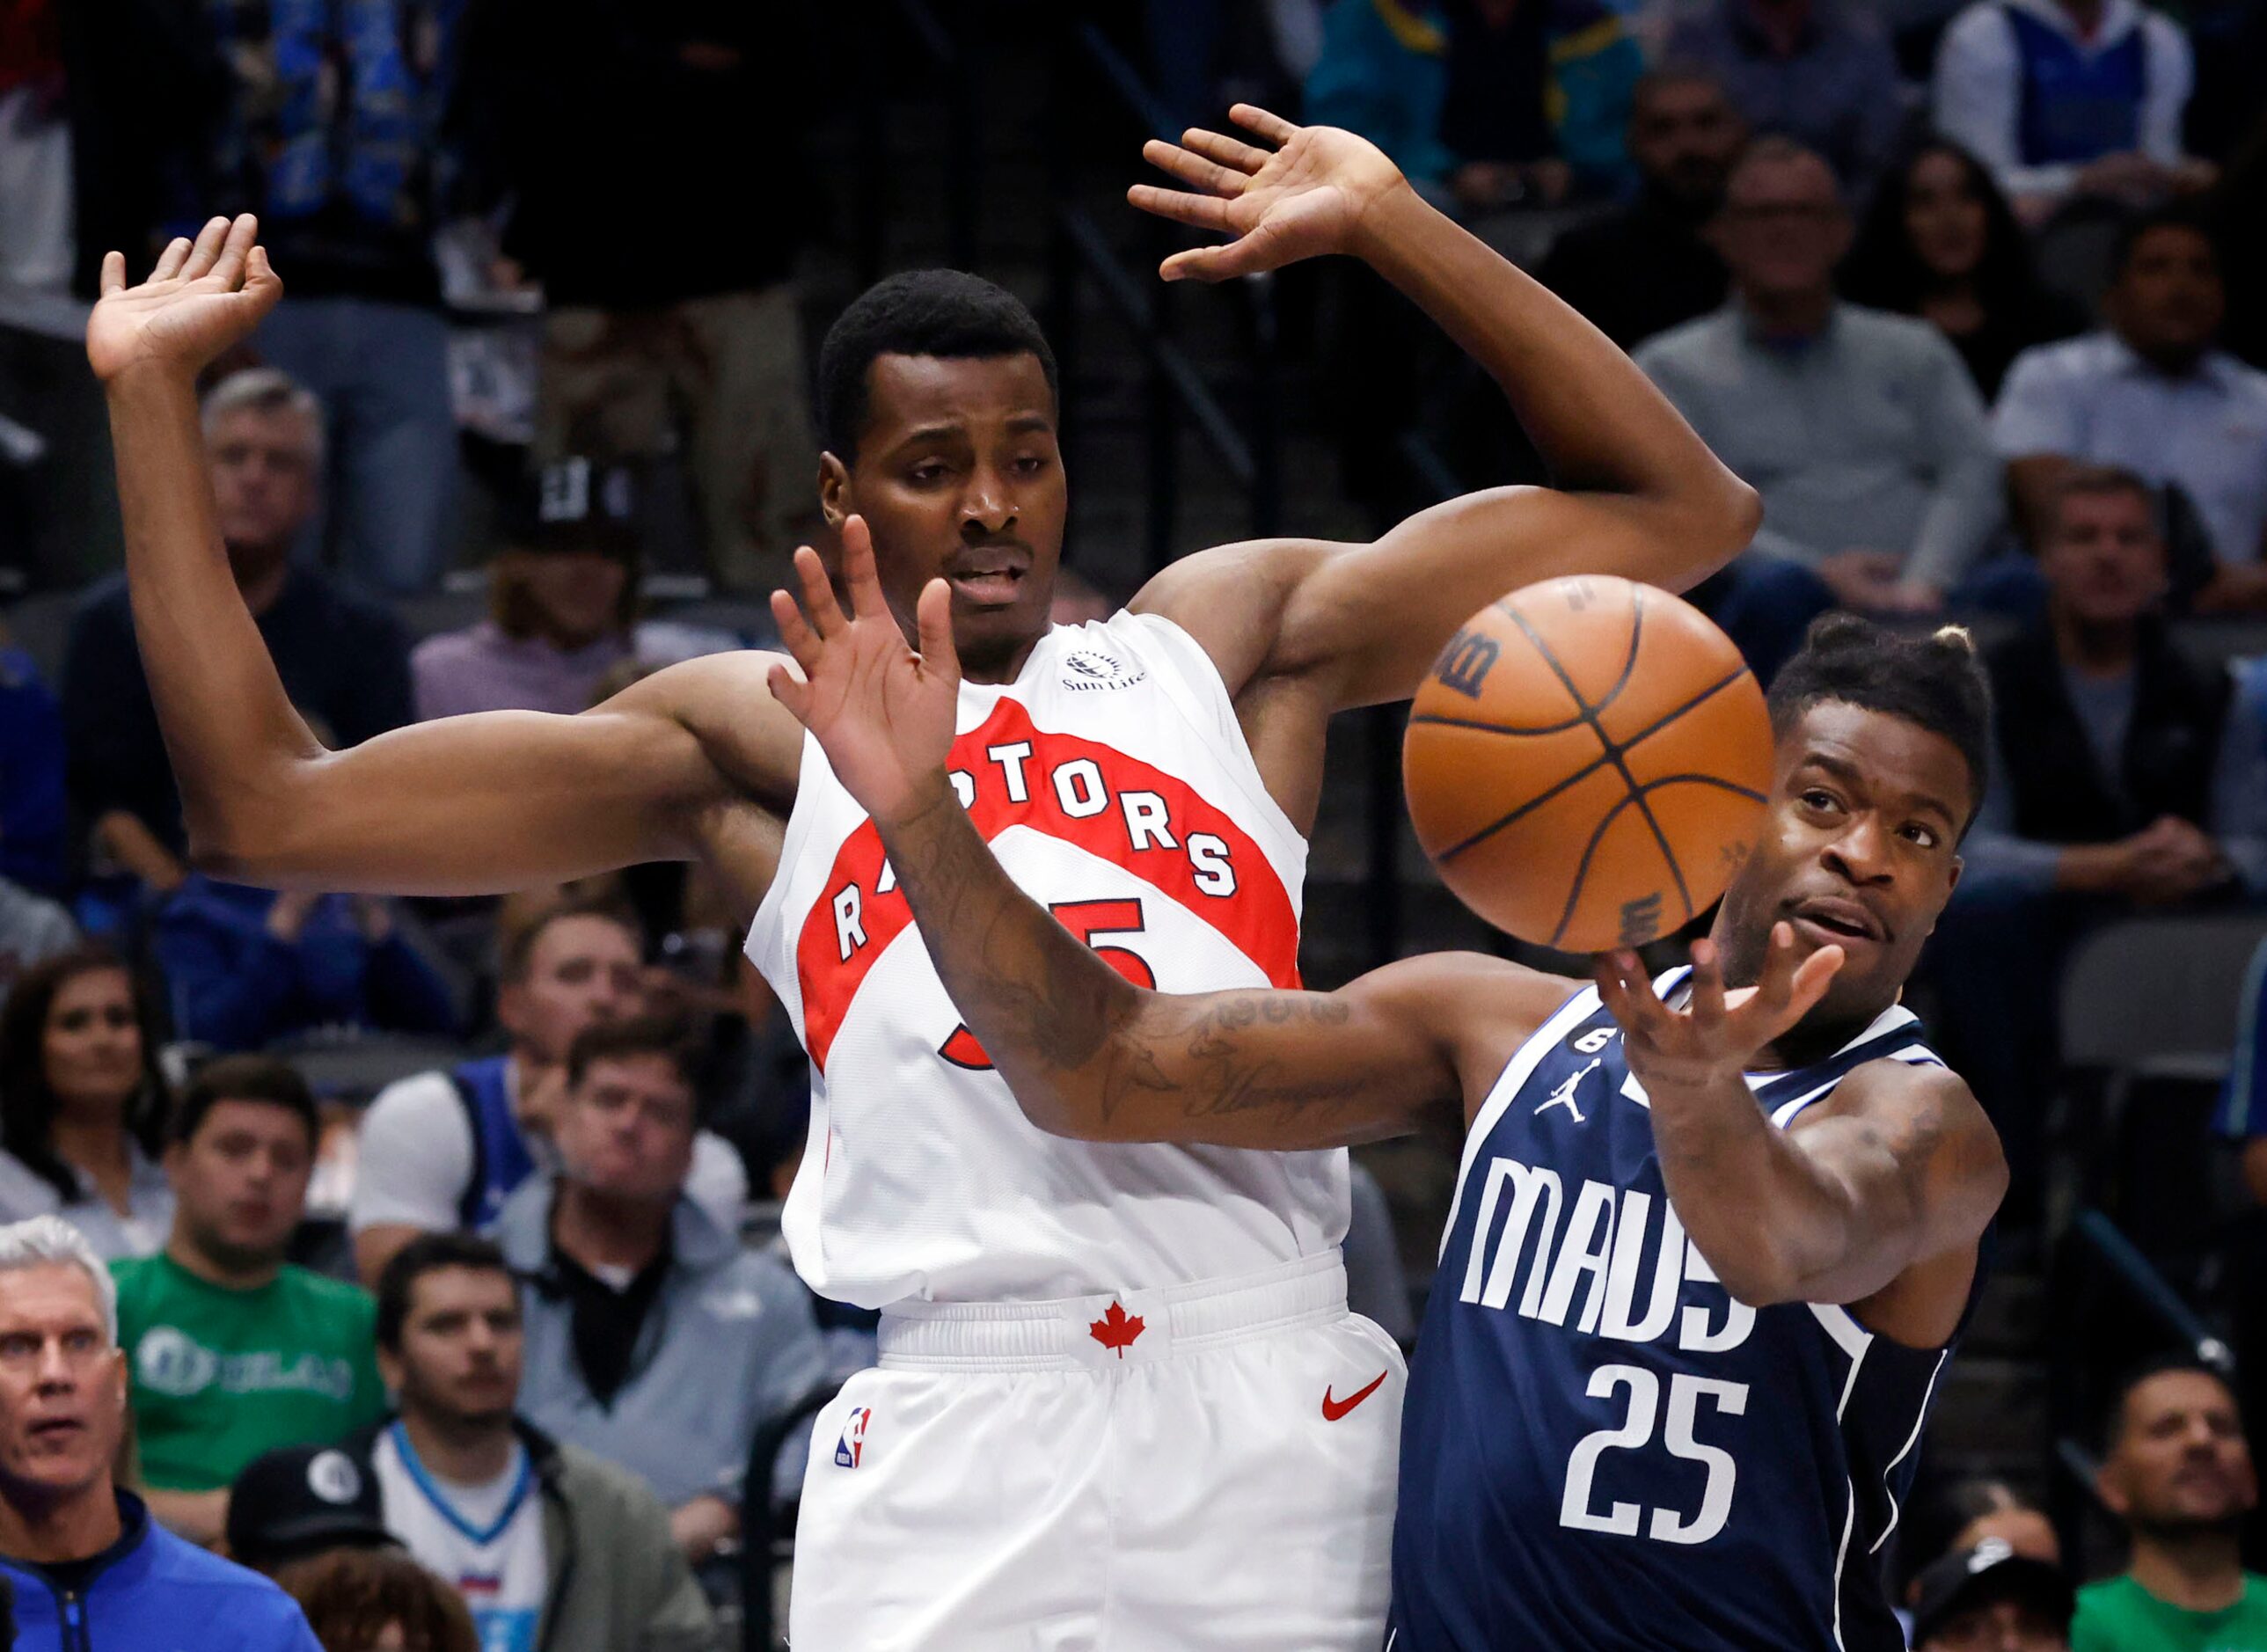
POLYGON ((25 970, 0 1011, 0 1221, 59 1215, 104 1258, 165 1244, 156 1049, 154 1002, 109 947, 25 970))

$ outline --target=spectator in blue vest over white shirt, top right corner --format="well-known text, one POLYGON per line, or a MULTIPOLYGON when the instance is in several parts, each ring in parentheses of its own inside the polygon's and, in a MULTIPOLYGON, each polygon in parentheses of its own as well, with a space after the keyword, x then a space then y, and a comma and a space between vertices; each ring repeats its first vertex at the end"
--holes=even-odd
POLYGON ((1977 0, 1936 48, 1934 118, 2043 224, 2072 195, 2206 188, 2213 165, 2181 154, 2194 84, 2181 25, 2136 0, 1977 0))

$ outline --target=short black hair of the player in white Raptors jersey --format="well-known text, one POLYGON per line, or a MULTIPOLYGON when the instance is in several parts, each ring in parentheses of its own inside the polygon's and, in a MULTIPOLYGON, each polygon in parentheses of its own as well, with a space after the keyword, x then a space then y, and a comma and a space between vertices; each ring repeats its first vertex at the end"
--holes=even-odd
POLYGON ((843 465, 866 431, 868 369, 877 356, 1038 356, 1061 401, 1054 351, 1038 317, 1002 286, 966 270, 907 270, 866 288, 818 347, 818 440, 843 465))

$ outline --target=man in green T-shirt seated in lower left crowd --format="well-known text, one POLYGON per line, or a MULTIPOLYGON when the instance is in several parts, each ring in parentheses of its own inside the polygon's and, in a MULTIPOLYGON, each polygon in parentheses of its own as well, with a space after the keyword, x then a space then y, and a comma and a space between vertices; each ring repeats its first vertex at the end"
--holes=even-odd
POLYGON ((315 1097, 290 1065, 211 1063, 165 1149, 172 1237, 111 1269, 150 1509, 195 1543, 220 1539, 247 1462, 385 1412, 370 1296, 283 1260, 315 1129, 315 1097))

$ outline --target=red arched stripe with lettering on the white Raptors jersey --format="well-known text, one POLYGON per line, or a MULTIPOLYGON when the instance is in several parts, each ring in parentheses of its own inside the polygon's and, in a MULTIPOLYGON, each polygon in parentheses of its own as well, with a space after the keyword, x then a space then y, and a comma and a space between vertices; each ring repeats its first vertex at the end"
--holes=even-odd
MULTIPOLYGON (((1292 911, 1290 893, 1276 877, 1260 845, 1229 816, 1208 804, 1183 780, 1174 780, 1136 757, 1111 750, 1099 741, 1075 734, 1052 734, 1031 725, 1031 714, 1016 700, 1000 700, 982 727, 952 741, 948 766, 954 775, 966 775, 975 784, 975 802, 968 818, 991 843, 1009 827, 1031 827, 1052 838, 1072 843, 1088 854, 1124 866, 1163 895, 1186 906, 1190 913, 1217 929, 1238 952, 1251 959, 1274 986, 1299 986, 1299 918, 1292 911), (1002 746, 1029 743, 1022 757, 988 757, 1002 746), (1065 764, 1093 764, 1102 775, 1104 807, 1095 804, 1095 793, 1084 768, 1056 780, 1065 764), (1018 802, 1013 791, 1022 791, 1018 802), (1134 802, 1127 795, 1134 793, 1134 802), (1079 809, 1070 814, 1068 800, 1079 809), (1158 818, 1147 809, 1149 798, 1163 802, 1158 818), (1140 836, 1140 848, 1134 848, 1140 836), (1233 872, 1233 888, 1215 893, 1206 886, 1222 882, 1217 857, 1202 859, 1190 850, 1190 838, 1217 838, 1226 845, 1226 868, 1233 872), (1165 848, 1165 843, 1172 848, 1165 848)), ((966 791, 963 782, 963 791, 966 791)), ((803 920, 796 938, 796 977, 803 983, 803 1047, 823 1070, 834 1033, 841 1031, 850 999, 875 959, 889 943, 914 922, 905 895, 891 886, 875 893, 882 877, 882 834, 873 820, 864 820, 857 832, 843 838, 827 872, 818 902, 803 920), (843 916, 841 902, 848 891, 857 891, 855 920, 843 916), (855 922, 850 956, 843 959, 843 929, 855 922)))

